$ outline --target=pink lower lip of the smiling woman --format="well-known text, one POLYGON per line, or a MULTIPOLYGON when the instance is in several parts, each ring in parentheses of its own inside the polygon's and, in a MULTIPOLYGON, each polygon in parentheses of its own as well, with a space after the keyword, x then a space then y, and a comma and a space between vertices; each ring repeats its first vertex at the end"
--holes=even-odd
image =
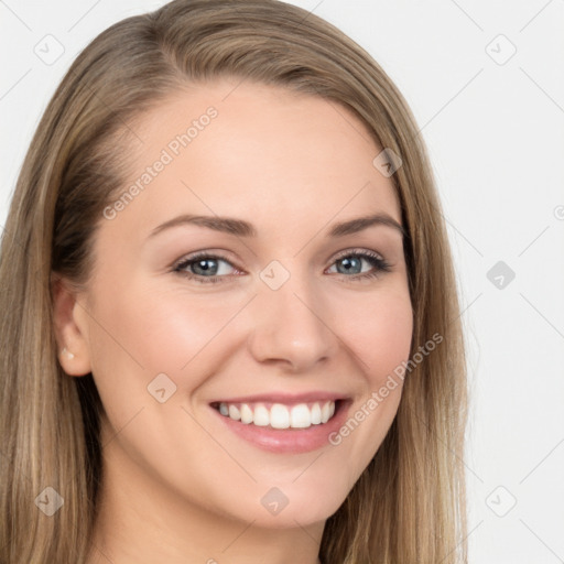
POLYGON ((336 432, 346 421, 349 401, 339 401, 335 414, 318 425, 307 429, 272 429, 270 426, 257 426, 252 423, 241 423, 231 417, 221 415, 215 408, 210 408, 227 427, 245 441, 272 453, 300 454, 308 453, 327 446, 329 435, 336 432))

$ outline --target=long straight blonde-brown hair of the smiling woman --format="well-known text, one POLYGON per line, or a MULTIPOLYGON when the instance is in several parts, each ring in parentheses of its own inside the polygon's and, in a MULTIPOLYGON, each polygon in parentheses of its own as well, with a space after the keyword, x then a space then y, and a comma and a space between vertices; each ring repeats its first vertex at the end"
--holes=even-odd
POLYGON ((189 82, 226 75, 341 105, 401 155, 392 181, 406 230, 412 354, 443 337, 406 376, 392 426, 328 519, 319 555, 327 564, 466 562, 464 346, 425 147, 402 95, 361 47, 276 0, 175 0, 123 20, 76 58, 43 116, 0 250, 0 562, 87 560, 102 405, 91 375, 70 378, 57 361, 52 275, 87 284, 102 209, 123 187, 132 120, 189 82), (47 486, 64 498, 53 516, 34 502, 47 486))

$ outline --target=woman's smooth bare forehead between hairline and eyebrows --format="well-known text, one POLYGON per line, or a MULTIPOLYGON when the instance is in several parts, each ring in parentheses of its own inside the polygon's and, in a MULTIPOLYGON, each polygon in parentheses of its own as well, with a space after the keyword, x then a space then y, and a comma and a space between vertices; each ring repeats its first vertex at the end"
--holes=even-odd
POLYGON ((132 126, 120 214, 164 221, 181 212, 307 225, 386 210, 401 220, 380 148, 347 108, 285 88, 221 79, 178 90, 132 126), (158 170, 156 170, 158 169, 158 170))

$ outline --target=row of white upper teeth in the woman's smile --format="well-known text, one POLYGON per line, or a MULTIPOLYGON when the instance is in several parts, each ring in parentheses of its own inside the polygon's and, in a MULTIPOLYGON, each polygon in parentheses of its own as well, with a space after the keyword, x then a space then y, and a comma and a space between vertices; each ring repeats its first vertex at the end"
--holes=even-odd
POLYGON ((241 423, 273 429, 306 429, 327 423, 335 413, 335 402, 297 403, 286 406, 273 403, 268 409, 264 403, 219 403, 219 413, 241 423))

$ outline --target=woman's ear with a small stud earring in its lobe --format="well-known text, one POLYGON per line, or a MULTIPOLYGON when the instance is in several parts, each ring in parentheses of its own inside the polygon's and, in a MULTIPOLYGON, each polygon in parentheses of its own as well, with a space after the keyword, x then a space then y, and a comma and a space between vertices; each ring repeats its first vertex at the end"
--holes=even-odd
POLYGON ((88 314, 78 303, 78 291, 56 273, 51 276, 53 323, 58 347, 58 361, 69 376, 91 371, 88 346, 88 314))

